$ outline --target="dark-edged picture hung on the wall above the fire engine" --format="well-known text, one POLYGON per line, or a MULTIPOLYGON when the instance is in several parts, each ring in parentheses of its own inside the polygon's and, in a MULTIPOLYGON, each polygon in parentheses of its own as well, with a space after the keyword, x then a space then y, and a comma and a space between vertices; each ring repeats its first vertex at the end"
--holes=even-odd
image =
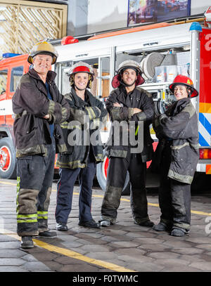
POLYGON ((129 0, 127 25, 163 22, 190 15, 191 0, 129 0))

